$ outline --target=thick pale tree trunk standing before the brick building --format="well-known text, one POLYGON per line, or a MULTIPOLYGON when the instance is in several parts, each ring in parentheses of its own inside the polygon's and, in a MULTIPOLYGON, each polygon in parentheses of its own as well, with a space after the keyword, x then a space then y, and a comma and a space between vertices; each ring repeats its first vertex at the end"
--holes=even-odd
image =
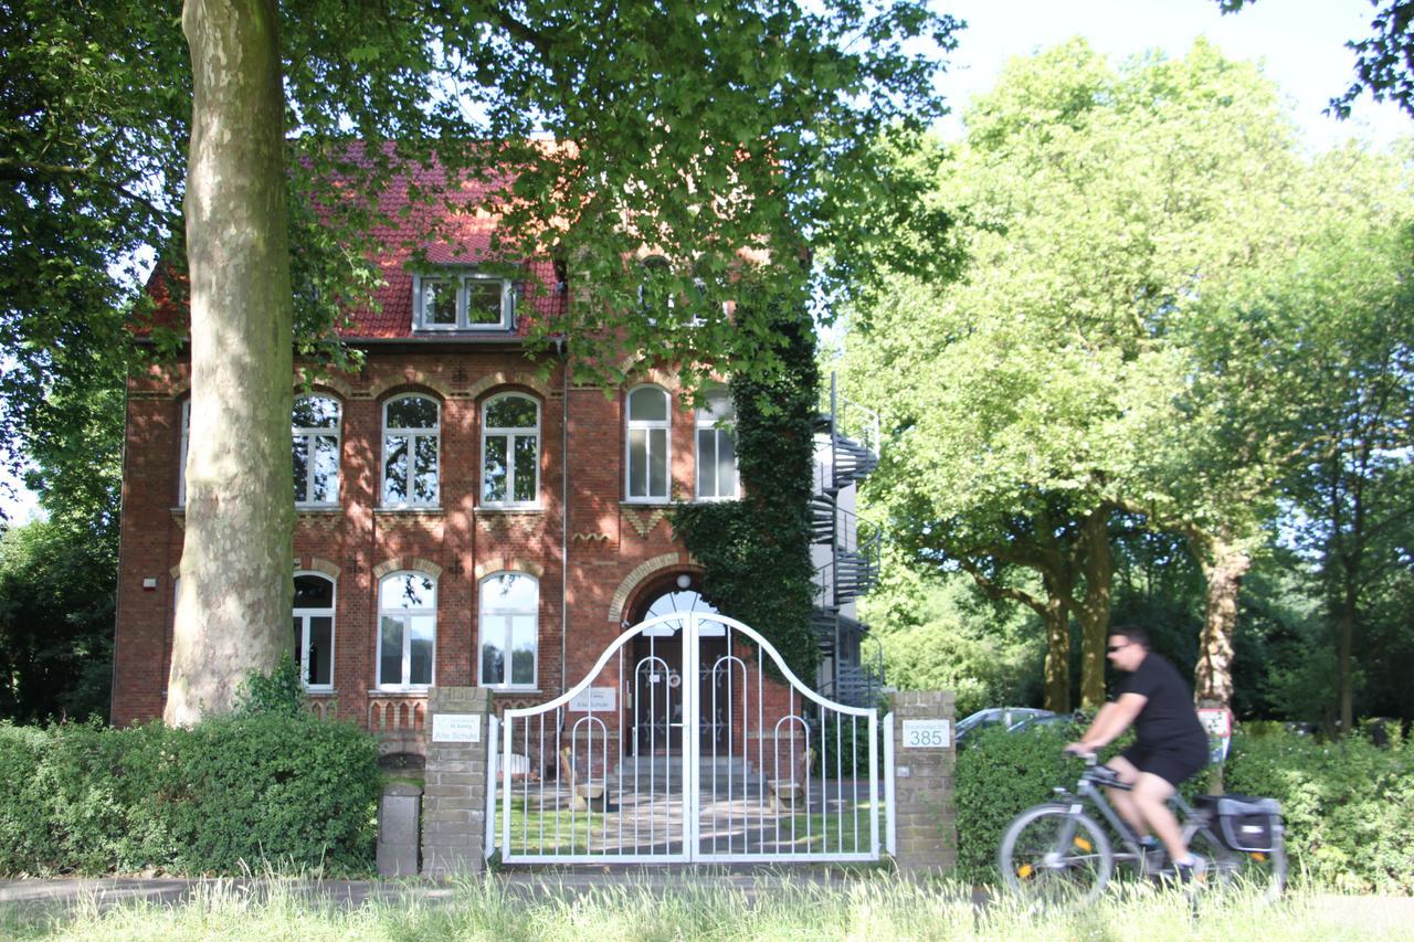
POLYGON ((293 390, 274 0, 187 0, 191 438, 164 720, 232 707, 290 649, 293 390))

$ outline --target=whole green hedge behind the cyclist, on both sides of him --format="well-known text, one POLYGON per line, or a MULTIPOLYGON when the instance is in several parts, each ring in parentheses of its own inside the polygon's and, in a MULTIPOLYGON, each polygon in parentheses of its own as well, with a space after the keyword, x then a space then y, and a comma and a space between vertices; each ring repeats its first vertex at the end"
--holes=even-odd
MULTIPOLYGON (((959 876, 991 884, 997 844, 1011 819, 1073 786, 1080 765, 1060 748, 1075 731, 981 731, 957 752, 959 876)), ((1104 755, 1117 747, 1106 750, 1104 755)), ((1285 730, 1239 734, 1226 791, 1281 802, 1291 880, 1343 892, 1414 892, 1414 747, 1353 737, 1325 743, 1285 730)), ((1206 789, 1206 775, 1185 792, 1206 789)))

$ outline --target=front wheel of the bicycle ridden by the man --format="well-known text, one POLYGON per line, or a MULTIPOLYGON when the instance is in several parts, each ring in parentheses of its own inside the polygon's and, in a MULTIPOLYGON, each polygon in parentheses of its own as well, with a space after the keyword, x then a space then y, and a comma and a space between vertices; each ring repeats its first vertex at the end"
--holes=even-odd
POLYGON ((1007 888, 1041 904, 1087 905, 1114 873, 1110 840, 1094 819, 1069 805, 1017 815, 997 849, 1007 888))

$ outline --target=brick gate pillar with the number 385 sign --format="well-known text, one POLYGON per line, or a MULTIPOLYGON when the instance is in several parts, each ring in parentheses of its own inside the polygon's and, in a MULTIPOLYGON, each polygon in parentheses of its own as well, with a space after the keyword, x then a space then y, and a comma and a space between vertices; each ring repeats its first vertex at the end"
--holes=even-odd
POLYGON ((957 813, 953 806, 953 694, 901 690, 894 711, 894 801, 901 870, 950 870, 957 864, 957 813), (939 720, 947 734, 939 737, 939 720), (928 726, 922 726, 928 723, 928 726))

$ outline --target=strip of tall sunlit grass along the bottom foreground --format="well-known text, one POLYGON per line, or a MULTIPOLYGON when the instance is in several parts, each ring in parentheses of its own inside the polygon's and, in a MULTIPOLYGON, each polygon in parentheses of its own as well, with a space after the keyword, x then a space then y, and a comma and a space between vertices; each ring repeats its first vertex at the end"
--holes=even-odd
MULTIPOLYGON (((625 878, 592 888, 546 877, 508 885, 465 880, 356 908, 294 881, 214 883, 181 905, 0 912, 0 934, 28 939, 1386 939, 1408 938, 1408 912, 1359 898, 1298 895, 1264 905, 1243 894, 1196 902, 1179 891, 1126 887, 1082 912, 984 905, 953 883, 868 874, 822 885, 758 877, 755 891, 711 878, 625 878)), ((1406 901, 1394 901, 1403 904, 1406 901)))

